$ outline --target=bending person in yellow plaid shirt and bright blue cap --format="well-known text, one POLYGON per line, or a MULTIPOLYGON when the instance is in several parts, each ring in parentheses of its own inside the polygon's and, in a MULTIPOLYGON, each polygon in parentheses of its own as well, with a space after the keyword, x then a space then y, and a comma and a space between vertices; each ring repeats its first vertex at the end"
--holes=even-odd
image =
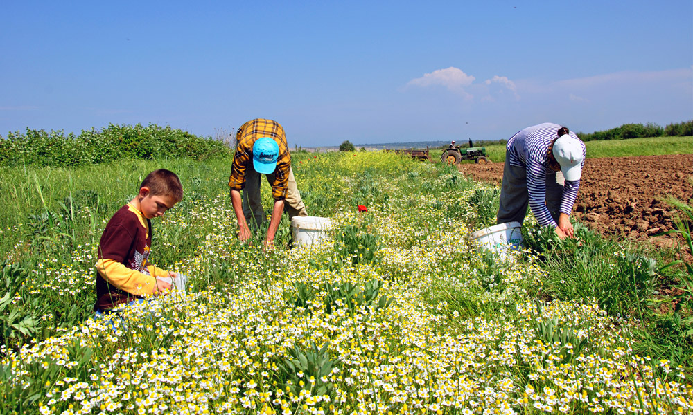
POLYGON ((229 178, 231 203, 238 219, 238 239, 241 241, 252 236, 249 222, 257 228, 267 221, 260 199, 260 174, 267 175, 274 198, 265 238, 265 246, 271 247, 284 210, 289 219, 308 216, 308 213, 291 170, 284 129, 276 121, 256 118, 243 124, 236 132, 236 154, 229 178))

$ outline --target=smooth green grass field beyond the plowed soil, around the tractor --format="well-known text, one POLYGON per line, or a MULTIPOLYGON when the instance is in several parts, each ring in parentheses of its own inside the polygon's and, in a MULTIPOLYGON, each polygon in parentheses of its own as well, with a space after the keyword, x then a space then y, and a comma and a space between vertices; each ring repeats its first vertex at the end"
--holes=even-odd
MULTIPOLYGON (((693 137, 631 138, 629 140, 588 141, 587 158, 661 156, 663 154, 693 154, 693 137)), ((440 160, 442 149, 431 150, 435 160, 440 160)), ((505 145, 486 146, 486 154, 494 163, 505 160, 505 145)), ((473 163, 473 162, 466 162, 473 163)))

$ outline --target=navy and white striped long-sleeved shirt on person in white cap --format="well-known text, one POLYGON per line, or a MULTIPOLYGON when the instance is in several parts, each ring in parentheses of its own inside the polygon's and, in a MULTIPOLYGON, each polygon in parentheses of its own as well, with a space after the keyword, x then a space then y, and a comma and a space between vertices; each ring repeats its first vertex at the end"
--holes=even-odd
MULTIPOLYGON (((546 176, 553 174, 548 165, 548 149, 551 141, 558 136, 559 124, 545 122, 519 131, 508 140, 507 151, 510 165, 527 169, 527 193, 529 193, 529 208, 539 225, 556 226, 546 207, 546 176)), ((579 140, 575 133, 569 133, 572 138, 579 140)), ((585 165, 585 145, 582 145, 582 165, 585 165)), ((579 179, 565 181, 561 208, 559 212, 570 215, 572 206, 577 199, 580 187, 579 179)))

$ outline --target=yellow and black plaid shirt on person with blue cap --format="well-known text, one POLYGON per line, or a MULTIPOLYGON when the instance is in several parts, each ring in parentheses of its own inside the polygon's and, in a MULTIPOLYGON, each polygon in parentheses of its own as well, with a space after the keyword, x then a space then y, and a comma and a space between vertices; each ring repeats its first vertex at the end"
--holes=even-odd
POLYGON ((236 132, 236 154, 234 165, 231 167, 229 187, 233 190, 243 190, 245 186, 245 169, 253 162, 253 145, 263 137, 272 138, 279 145, 277 168, 274 169, 274 181, 272 181, 272 197, 275 200, 286 198, 286 187, 289 181, 289 169, 291 156, 289 155, 286 135, 279 122, 256 118, 241 125, 236 132))

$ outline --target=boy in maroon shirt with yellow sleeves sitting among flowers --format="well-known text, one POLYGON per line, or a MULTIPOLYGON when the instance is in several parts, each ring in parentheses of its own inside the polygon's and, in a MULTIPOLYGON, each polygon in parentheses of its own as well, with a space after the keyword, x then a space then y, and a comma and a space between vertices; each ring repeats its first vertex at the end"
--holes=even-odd
POLYGON ((178 176, 159 169, 144 178, 139 194, 108 221, 96 260, 97 315, 146 296, 164 295, 171 288, 159 278, 176 274, 147 262, 152 246, 150 219, 163 215, 181 199, 183 187, 178 176))

